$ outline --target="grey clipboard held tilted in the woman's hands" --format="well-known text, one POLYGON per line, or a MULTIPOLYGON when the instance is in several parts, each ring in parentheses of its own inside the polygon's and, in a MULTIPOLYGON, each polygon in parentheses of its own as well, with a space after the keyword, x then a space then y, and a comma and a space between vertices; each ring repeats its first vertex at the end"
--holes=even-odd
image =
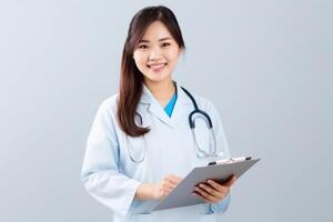
POLYGON ((160 211, 173 208, 189 206, 204 203, 192 194, 194 186, 208 179, 219 183, 225 182, 231 175, 238 179, 261 159, 229 161, 206 167, 194 168, 182 182, 164 199, 154 204, 151 211, 160 211))

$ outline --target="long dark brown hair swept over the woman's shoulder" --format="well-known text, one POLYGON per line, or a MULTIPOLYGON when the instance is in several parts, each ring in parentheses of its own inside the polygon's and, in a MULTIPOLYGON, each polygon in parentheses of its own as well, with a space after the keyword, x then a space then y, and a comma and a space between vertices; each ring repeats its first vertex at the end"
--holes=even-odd
POLYGON ((154 21, 161 21, 176 41, 179 48, 185 49, 176 18, 169 8, 163 6, 147 7, 132 18, 122 52, 118 100, 119 124, 130 137, 140 137, 150 130, 149 128, 138 127, 134 121, 137 107, 142 94, 143 77, 137 68, 133 52, 148 27, 154 21))

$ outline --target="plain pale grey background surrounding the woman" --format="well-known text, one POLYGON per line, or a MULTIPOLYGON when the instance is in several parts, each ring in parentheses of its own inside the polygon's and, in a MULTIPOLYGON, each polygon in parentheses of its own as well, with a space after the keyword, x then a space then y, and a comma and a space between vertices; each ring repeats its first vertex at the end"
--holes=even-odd
POLYGON ((221 221, 332 221, 329 0, 1 0, 0 221, 111 221, 80 182, 84 144, 132 16, 159 3, 188 47, 174 79, 214 102, 233 155, 262 158, 221 221))

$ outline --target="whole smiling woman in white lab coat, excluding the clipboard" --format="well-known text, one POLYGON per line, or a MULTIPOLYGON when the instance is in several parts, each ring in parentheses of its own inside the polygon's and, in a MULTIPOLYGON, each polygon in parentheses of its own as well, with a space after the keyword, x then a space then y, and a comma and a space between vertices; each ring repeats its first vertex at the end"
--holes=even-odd
POLYGON ((176 18, 165 7, 148 7, 132 19, 124 43, 120 91, 99 108, 87 142, 82 181, 87 191, 114 213, 114 221, 215 221, 230 202, 230 186, 203 181, 193 195, 204 201, 149 212, 194 167, 230 158, 213 104, 191 95, 172 80, 185 49, 176 18), (193 97, 193 98, 192 98, 193 97), (189 115, 193 114, 194 134, 189 115), (195 135, 195 137, 193 137, 195 135))

